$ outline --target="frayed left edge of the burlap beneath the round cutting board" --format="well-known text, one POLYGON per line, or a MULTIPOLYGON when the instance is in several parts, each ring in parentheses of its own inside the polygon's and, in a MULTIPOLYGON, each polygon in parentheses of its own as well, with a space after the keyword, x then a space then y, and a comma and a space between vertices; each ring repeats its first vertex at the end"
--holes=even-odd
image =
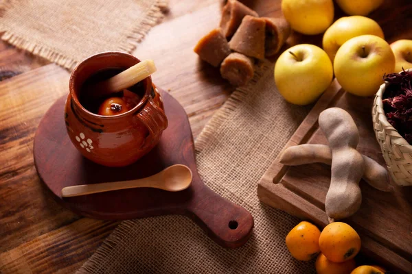
MULTIPOLYGON (((227 99, 222 107, 211 117, 210 121, 207 122, 207 125, 203 128, 201 134, 199 134, 198 138, 196 138, 196 155, 201 153, 201 151, 207 147, 209 141, 214 138, 214 132, 216 132, 222 123, 224 123, 229 117, 229 115, 234 112, 236 108, 238 108, 238 105, 244 101, 249 92, 254 92, 253 89, 256 86, 256 83, 268 68, 269 64, 266 62, 259 64, 258 68, 255 70, 255 75, 249 84, 233 91, 229 99, 227 99)), ((91 258, 80 267, 76 274, 95 273, 98 271, 98 267, 105 263, 108 253, 110 253, 117 246, 117 244, 122 241, 122 238, 128 236, 129 229, 133 226, 134 224, 132 220, 123 221, 120 223, 112 234, 104 240, 93 256, 91 256, 91 258)), ((205 237, 207 236, 205 235, 205 237)))

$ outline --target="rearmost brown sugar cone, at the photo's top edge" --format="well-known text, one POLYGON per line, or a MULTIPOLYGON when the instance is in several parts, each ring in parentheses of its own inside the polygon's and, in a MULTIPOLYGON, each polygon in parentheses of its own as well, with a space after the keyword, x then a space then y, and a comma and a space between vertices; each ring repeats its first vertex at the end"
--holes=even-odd
POLYGON ((236 0, 227 1, 225 7, 223 7, 222 19, 220 20, 223 34, 226 37, 232 36, 242 23, 243 17, 247 15, 259 16, 257 12, 236 0))

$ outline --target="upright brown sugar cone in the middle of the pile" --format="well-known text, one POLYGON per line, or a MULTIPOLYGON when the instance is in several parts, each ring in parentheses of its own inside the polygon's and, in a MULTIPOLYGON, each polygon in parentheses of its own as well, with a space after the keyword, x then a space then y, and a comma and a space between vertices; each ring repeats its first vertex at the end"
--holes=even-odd
POLYGON ((229 47, 249 57, 264 59, 265 25, 266 21, 262 18, 244 16, 229 42, 229 47))

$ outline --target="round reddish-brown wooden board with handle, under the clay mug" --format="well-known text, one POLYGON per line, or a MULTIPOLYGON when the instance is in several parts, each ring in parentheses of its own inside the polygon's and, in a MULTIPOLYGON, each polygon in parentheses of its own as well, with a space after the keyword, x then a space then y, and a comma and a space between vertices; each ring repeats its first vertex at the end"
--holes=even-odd
POLYGON ((125 220, 183 214, 219 245, 240 247, 251 235, 253 217, 203 184, 196 169, 192 130, 185 110, 168 92, 160 92, 169 126, 155 149, 135 164, 122 168, 100 166, 82 157, 66 132, 63 114, 66 97, 58 99, 43 117, 34 137, 34 163, 39 177, 60 203, 83 216, 125 220), (190 188, 180 192, 134 188, 61 197, 65 186, 148 177, 173 164, 190 167, 193 173, 190 188))

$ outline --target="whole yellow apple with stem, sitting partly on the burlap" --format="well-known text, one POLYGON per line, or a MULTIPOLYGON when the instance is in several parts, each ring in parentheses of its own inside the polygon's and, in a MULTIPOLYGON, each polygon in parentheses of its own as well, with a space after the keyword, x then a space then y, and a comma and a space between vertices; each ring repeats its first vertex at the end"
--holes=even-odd
POLYGON ((275 83, 289 103, 313 103, 332 82, 333 68, 320 47, 296 45, 284 51, 275 64, 275 83))

